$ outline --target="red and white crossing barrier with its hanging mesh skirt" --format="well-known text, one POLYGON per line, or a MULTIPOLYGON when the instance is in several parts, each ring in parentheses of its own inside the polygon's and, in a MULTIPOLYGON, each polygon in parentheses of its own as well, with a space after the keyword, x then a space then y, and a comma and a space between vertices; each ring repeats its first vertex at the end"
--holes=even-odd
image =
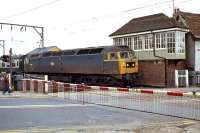
POLYGON ((40 93, 39 90, 47 83, 48 95, 62 97, 66 102, 77 101, 82 104, 97 104, 200 120, 200 92, 87 86, 55 81, 41 81, 42 84, 39 82, 30 80, 30 85, 27 85, 29 81, 24 80, 24 87, 36 87, 38 91, 35 91, 36 88, 23 88, 23 90, 40 93))

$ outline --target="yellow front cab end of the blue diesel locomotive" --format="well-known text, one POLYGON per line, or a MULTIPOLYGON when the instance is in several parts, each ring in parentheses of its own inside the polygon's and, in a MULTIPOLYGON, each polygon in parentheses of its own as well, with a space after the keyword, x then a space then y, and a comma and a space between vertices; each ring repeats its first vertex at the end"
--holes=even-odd
POLYGON ((130 49, 121 49, 115 52, 108 52, 105 72, 115 75, 123 82, 123 86, 132 86, 135 84, 138 73, 138 59, 134 51, 130 49))

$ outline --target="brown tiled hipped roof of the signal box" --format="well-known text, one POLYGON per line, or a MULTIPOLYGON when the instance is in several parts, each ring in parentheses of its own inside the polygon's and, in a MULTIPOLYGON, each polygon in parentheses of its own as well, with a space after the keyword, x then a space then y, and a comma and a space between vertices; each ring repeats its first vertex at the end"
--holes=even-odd
POLYGON ((169 18, 163 13, 134 18, 109 36, 160 30, 168 28, 186 28, 182 23, 169 18))

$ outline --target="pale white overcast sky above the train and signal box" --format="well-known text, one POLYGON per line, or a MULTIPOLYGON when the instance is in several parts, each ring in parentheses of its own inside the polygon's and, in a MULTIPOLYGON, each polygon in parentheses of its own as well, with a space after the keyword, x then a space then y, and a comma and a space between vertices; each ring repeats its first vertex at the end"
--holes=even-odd
MULTIPOLYGON (((173 0, 0 0, 0 23, 44 27, 44 46, 61 49, 112 45, 109 34, 133 18, 164 13, 172 16, 173 0)), ((181 11, 200 13, 200 0, 174 0, 181 11)), ((2 25, 6 54, 25 54, 39 47, 33 28, 2 25)), ((0 47, 0 55, 2 55, 0 47)))

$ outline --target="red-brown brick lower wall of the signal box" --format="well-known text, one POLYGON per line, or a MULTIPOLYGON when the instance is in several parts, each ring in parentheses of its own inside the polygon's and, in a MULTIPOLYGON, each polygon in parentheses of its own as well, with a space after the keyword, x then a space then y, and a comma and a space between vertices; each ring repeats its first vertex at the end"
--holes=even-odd
POLYGON ((185 69, 184 60, 167 60, 167 85, 165 85, 165 62, 164 60, 140 60, 139 78, 137 84, 171 87, 174 86, 175 69, 185 69))

